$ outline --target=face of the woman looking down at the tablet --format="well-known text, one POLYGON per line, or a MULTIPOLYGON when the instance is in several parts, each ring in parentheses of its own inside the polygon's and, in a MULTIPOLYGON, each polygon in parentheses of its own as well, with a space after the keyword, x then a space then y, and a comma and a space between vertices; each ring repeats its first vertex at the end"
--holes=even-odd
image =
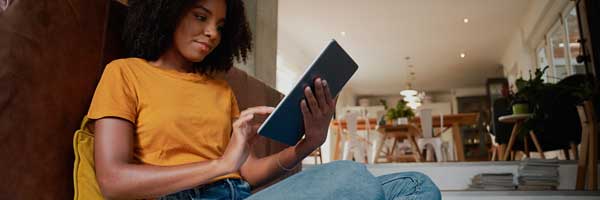
POLYGON ((198 0, 182 16, 175 33, 175 50, 190 62, 202 61, 221 42, 225 0, 198 0))

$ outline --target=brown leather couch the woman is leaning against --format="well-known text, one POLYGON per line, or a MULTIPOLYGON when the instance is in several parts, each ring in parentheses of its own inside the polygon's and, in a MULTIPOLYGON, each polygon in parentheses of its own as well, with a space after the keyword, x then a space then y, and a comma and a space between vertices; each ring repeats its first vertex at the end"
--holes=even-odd
MULTIPOLYGON (((106 0, 11 0, 0 13, 0 199, 73 198, 72 137, 106 63, 122 57, 126 7, 106 0)), ((240 108, 282 95, 229 73, 240 108), (250 98, 251 97, 251 98, 250 98)), ((285 146, 261 138, 259 156, 285 146)))

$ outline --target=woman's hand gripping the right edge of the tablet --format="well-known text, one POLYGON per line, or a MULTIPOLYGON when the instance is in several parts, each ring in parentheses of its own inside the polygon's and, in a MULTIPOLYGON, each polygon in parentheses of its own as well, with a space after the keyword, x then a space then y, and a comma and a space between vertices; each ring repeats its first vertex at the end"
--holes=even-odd
POLYGON ((326 80, 315 80, 315 94, 310 87, 304 89, 305 100, 300 102, 300 109, 304 119, 304 143, 311 147, 311 151, 321 146, 327 139, 329 122, 335 112, 337 98, 333 99, 326 80), (307 102, 308 101, 308 102, 307 102))

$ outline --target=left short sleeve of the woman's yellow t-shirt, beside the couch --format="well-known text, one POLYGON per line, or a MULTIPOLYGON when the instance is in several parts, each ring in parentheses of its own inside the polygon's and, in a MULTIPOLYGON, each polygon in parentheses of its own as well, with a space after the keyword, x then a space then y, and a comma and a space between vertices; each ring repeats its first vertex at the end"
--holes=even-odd
POLYGON ((117 60, 106 66, 94 92, 88 118, 118 117, 135 124, 137 95, 133 82, 128 79, 132 74, 124 65, 117 60))

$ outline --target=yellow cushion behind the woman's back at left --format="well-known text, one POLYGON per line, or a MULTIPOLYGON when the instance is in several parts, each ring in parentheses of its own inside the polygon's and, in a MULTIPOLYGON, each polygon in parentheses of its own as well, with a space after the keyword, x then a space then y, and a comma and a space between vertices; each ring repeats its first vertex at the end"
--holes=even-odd
POLYGON ((75 164, 73 167, 73 183, 75 200, 102 200, 102 193, 96 181, 94 171, 94 135, 86 127, 88 118, 84 117, 79 130, 73 137, 75 164))

